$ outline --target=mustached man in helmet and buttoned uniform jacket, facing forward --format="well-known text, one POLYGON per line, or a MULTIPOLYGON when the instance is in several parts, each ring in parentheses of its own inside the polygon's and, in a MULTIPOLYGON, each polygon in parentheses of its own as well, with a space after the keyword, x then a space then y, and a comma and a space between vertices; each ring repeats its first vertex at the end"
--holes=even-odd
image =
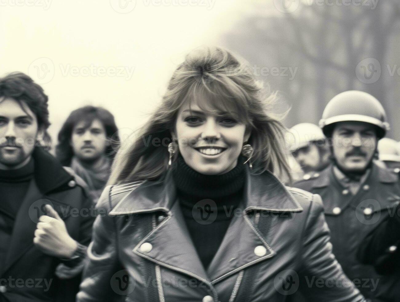
POLYGON ((372 95, 346 91, 326 105, 320 126, 333 163, 294 186, 322 197, 333 252, 362 294, 374 302, 399 301, 400 279, 381 276, 356 258, 364 237, 393 213, 400 196, 398 174, 373 161, 389 129, 385 111, 372 95))

